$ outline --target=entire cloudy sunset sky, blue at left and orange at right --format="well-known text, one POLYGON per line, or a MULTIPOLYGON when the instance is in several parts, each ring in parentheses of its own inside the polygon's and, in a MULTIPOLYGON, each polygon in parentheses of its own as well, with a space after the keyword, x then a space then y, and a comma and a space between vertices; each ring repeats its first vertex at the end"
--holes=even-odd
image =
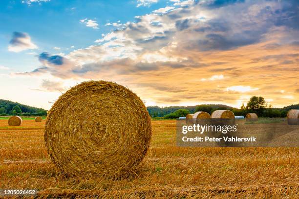
POLYGON ((298 0, 1 0, 0 99, 49 109, 85 80, 147 106, 299 102, 298 0))

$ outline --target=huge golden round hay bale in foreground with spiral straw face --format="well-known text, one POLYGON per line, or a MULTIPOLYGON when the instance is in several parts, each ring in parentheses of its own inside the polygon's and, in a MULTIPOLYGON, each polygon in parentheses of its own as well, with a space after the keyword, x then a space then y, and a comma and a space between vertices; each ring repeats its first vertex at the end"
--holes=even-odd
POLYGON ((119 176, 133 171, 149 148, 146 106, 128 88, 85 81, 48 112, 44 141, 53 163, 76 176, 119 176))

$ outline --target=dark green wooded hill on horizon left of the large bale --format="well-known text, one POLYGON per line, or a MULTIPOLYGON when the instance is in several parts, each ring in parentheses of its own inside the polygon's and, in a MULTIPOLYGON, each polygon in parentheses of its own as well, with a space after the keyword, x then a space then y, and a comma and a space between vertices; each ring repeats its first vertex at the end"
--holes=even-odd
POLYGON ((46 116, 47 111, 9 100, 0 100, 0 116, 46 116))

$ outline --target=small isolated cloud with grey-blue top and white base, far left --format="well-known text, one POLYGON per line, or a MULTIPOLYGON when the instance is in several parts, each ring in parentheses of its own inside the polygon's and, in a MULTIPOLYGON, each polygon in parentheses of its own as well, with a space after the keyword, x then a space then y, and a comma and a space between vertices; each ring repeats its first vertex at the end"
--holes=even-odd
POLYGON ((38 48, 27 33, 14 32, 12 39, 9 41, 8 51, 21 52, 27 49, 38 48))

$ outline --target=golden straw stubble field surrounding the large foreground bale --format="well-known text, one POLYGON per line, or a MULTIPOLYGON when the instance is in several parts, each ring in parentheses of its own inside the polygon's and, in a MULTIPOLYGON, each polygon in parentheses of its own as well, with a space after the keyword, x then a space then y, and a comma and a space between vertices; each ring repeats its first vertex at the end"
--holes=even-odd
POLYGON ((298 198, 298 148, 179 148, 175 121, 152 121, 147 156, 121 179, 61 173, 46 154, 42 122, 0 120, 0 189, 41 197, 298 198))

